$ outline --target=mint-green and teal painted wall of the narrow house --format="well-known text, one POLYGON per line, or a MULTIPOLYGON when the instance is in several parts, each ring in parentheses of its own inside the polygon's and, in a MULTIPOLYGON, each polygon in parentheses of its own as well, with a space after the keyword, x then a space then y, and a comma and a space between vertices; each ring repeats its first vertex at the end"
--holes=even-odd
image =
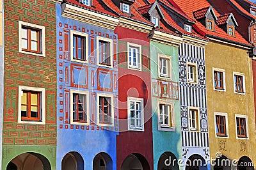
MULTIPOLYGON (((170 81, 179 84, 179 47, 165 45, 163 43, 150 41, 151 77, 158 77, 158 54, 172 56, 172 79, 170 81)), ((164 80, 164 79, 163 79, 164 80)), ((168 80, 169 81, 169 80, 168 80)), ((153 92, 153 91, 152 91, 153 92)), ((153 154, 154 169, 157 169, 159 157, 166 151, 172 152, 177 159, 181 158, 181 136, 180 136, 180 102, 174 101, 175 132, 164 132, 158 130, 157 100, 159 98, 152 95, 152 133, 153 133, 153 154)), ((176 168, 175 168, 176 169, 176 168)))

